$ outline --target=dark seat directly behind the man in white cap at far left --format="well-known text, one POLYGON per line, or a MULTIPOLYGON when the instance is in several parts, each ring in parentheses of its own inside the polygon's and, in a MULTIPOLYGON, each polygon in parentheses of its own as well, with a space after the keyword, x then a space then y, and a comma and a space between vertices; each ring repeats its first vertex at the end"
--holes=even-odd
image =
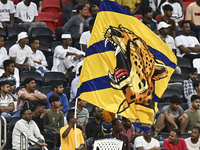
POLYGON ((13 26, 13 27, 8 28, 8 39, 16 42, 17 36, 20 32, 28 33, 28 30, 22 26, 13 26))

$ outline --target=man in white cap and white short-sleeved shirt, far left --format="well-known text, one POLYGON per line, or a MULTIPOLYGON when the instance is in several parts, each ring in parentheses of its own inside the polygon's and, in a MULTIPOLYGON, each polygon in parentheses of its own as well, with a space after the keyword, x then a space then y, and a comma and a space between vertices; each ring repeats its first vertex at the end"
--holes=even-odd
POLYGON ((21 32, 18 34, 18 40, 9 49, 10 59, 15 62, 16 68, 22 71, 35 71, 34 67, 28 65, 27 61, 31 55, 31 48, 28 44, 28 34, 26 32, 21 32))

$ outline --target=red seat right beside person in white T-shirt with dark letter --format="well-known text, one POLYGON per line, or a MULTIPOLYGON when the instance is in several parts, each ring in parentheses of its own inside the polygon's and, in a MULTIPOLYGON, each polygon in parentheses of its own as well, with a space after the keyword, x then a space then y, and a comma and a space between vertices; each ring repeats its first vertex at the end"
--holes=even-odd
POLYGON ((45 22, 47 27, 50 28, 53 33, 55 33, 56 22, 53 13, 40 12, 38 13, 38 16, 35 17, 35 22, 45 22))

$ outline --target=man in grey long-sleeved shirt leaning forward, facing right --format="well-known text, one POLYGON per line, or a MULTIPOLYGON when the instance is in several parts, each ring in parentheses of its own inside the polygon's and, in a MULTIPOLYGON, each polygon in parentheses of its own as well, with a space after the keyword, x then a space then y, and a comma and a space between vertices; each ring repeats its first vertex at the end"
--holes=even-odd
POLYGON ((77 6, 77 15, 69 19, 62 27, 64 34, 71 34, 72 45, 75 46, 79 42, 80 36, 84 30, 84 17, 87 16, 87 8, 84 5, 77 6))

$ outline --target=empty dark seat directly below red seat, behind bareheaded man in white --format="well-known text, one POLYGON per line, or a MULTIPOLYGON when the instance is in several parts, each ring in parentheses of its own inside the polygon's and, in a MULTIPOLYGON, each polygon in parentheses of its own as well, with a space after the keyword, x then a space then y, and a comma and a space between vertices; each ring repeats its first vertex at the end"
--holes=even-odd
POLYGON ((32 28, 30 36, 37 37, 40 42, 45 42, 48 45, 48 47, 50 47, 51 43, 53 42, 52 31, 49 28, 45 27, 32 28))

